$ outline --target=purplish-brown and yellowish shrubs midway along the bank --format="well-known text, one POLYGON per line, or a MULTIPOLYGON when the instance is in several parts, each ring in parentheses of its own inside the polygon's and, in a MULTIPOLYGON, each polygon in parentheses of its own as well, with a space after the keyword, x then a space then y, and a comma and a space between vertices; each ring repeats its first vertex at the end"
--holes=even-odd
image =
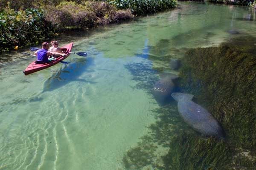
POLYGON ((46 19, 58 30, 67 27, 87 29, 134 17, 130 10, 117 12, 108 2, 97 1, 84 1, 81 4, 63 1, 56 7, 46 6, 45 11, 46 19))

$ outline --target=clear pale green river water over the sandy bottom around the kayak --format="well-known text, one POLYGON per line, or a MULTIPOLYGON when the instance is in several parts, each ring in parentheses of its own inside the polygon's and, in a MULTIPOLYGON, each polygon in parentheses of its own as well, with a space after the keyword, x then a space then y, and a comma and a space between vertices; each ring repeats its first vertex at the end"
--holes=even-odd
POLYGON ((2 55, 0 170, 125 169, 122 156, 156 121, 152 110, 160 106, 149 93, 159 76, 154 68, 178 74, 159 58, 180 58, 187 48, 237 36, 229 30, 255 35, 255 20, 248 8, 180 3, 128 23, 61 36, 60 44, 73 41, 73 51, 88 53, 71 55, 68 65, 24 76, 33 57, 2 55))

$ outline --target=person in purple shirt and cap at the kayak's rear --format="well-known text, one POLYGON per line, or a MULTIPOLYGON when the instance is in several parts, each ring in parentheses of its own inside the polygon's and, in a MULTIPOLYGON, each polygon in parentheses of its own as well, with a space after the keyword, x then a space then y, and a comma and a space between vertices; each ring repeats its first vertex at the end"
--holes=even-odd
POLYGON ((49 62, 48 57, 51 55, 58 55, 63 57, 67 56, 66 54, 48 51, 48 49, 49 49, 49 43, 43 42, 42 49, 35 51, 34 54, 37 56, 37 60, 35 61, 36 64, 44 64, 49 62))

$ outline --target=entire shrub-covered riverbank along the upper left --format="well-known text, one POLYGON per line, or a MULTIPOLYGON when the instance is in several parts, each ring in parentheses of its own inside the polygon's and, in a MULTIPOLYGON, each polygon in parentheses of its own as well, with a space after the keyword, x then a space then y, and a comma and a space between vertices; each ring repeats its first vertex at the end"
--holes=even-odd
POLYGON ((3 3, 0 10, 0 52, 55 38, 61 31, 86 30, 131 20, 134 16, 174 8, 176 0, 58 1, 52 5, 3 3))

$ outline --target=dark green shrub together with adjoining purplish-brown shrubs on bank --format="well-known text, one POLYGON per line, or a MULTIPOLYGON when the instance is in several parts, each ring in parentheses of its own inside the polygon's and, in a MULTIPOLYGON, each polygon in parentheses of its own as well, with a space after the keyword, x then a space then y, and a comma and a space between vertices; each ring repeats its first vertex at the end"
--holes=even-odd
POLYGON ((3 1, 0 10, 0 51, 16 45, 29 45, 67 28, 92 28, 96 25, 131 19, 131 10, 119 10, 108 2, 98 1, 3 1), (16 4, 16 5, 15 5, 16 4), (50 4, 50 5, 49 5, 50 4), (55 6, 56 5, 56 6, 55 6), (16 10, 14 6, 19 6, 16 10), (27 6, 40 6, 39 9, 27 6), (43 8, 44 10, 42 10, 43 8))

